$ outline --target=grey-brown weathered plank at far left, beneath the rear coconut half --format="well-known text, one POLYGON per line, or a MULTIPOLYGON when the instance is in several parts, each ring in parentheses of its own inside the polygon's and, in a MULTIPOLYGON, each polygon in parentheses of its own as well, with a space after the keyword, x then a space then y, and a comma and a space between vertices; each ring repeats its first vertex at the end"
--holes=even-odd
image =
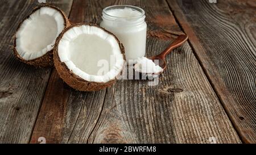
MULTIPOLYGON (((59 1, 68 12, 71 1, 59 1)), ((51 69, 19 62, 13 55, 14 33, 37 1, 0 2, 0 143, 28 143, 51 69)))

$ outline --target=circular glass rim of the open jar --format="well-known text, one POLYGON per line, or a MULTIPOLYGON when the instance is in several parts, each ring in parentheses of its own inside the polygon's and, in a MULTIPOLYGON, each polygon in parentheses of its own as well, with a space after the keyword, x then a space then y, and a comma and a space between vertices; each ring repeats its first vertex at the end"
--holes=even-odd
POLYGON ((141 15, 136 15, 136 16, 132 16, 132 17, 128 17, 129 19, 133 19, 133 18, 143 18, 143 16, 145 15, 145 11, 143 9, 141 9, 141 7, 137 7, 137 6, 132 6, 132 5, 112 5, 112 6, 108 6, 105 7, 105 9, 103 9, 102 14, 105 14, 107 16, 113 17, 113 18, 124 18, 122 16, 113 16, 107 13, 108 10, 112 10, 112 9, 125 9, 125 7, 129 7, 131 9, 134 9, 136 11, 141 12, 141 15))

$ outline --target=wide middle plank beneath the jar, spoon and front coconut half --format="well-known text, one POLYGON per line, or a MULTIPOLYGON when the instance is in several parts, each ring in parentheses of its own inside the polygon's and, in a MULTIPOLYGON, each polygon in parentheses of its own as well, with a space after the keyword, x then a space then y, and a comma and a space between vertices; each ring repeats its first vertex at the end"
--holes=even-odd
MULTIPOLYGON (((183 33, 166 1, 74 1, 71 22, 100 23, 117 4, 146 11, 147 56, 183 33)), ((94 93, 70 89, 53 70, 31 143, 241 143, 188 43, 167 62, 158 86, 122 80, 94 93)))

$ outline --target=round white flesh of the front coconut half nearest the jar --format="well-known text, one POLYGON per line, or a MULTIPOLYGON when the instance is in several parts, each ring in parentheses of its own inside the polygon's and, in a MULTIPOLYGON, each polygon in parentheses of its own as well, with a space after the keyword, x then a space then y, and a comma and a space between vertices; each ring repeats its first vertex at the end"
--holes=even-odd
POLYGON ((60 61, 72 73, 90 82, 114 79, 125 64, 115 37, 96 26, 80 25, 69 29, 57 48, 60 61))

